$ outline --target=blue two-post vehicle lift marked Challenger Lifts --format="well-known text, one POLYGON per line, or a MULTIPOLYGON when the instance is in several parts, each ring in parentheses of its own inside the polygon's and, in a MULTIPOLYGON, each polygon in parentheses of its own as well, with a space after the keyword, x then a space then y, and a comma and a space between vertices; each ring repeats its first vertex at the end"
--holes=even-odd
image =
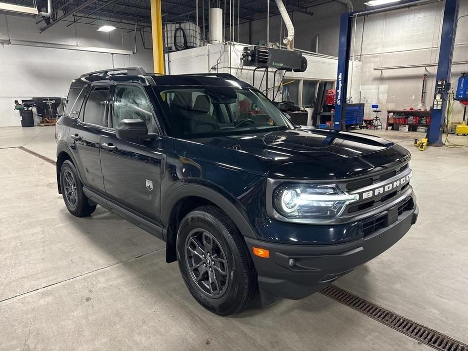
MULTIPOLYGON (((355 11, 344 13, 339 21, 339 38, 338 38, 338 73, 336 78, 336 103, 335 103, 335 118, 333 123, 334 129, 346 130, 345 112, 346 112, 346 97, 348 87, 348 67, 350 61, 350 47, 352 35, 352 18, 355 16, 365 16, 386 10, 394 10, 403 8, 411 3, 421 3, 420 0, 402 0, 396 5, 374 7, 369 10, 355 11)), ((439 65, 437 68, 437 79, 440 78, 450 81, 450 71, 452 65, 453 46, 455 41, 455 26, 458 16, 459 0, 445 0, 444 21, 442 24, 441 46, 439 52, 439 65)), ((437 83, 436 83, 437 85, 437 83)), ((437 89, 437 86, 436 86, 437 89)), ((445 115, 445 100, 443 106, 439 110, 434 110, 431 118, 431 126, 429 129, 429 143, 435 145, 439 140, 442 142, 442 132, 440 126, 443 116, 445 115)))

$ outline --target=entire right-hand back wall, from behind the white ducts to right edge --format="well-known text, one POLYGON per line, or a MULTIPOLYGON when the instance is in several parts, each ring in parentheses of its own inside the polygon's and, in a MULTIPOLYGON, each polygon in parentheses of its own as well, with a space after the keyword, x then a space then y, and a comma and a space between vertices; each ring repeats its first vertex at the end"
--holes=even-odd
MULTIPOLYGON (((355 10, 364 8, 363 0, 352 0, 355 10)), ((375 71, 374 67, 416 65, 437 63, 441 36, 441 24, 445 2, 437 2, 402 10, 359 17, 353 25, 351 56, 362 62, 362 76, 359 93, 358 82, 353 77, 353 102, 366 103, 366 117, 371 117, 371 105, 379 109, 429 109, 435 89, 437 67, 395 69, 375 71), (365 24, 363 23, 365 20, 365 24), (363 30, 364 27, 364 30, 363 30), (354 35, 355 34, 355 35, 354 35), (362 40, 362 46, 361 46, 362 40), (421 104, 422 75, 428 74, 425 102, 421 104)), ((287 8, 287 4, 286 4, 287 8)), ((294 47, 315 51, 315 37, 319 38, 319 53, 337 55, 339 15, 344 7, 328 3, 308 9, 314 16, 294 13, 293 24, 296 32, 294 47)), ((459 16, 468 14, 468 1, 460 1, 459 16)), ((270 18, 270 41, 279 41, 280 18, 270 18)), ((284 36, 284 25, 283 34, 284 36)), ((252 43, 266 39, 266 19, 252 22, 252 43)), ((248 24, 241 26, 241 40, 248 41, 248 24)), ((456 33, 453 61, 468 58, 468 17, 459 21, 456 33)), ((461 72, 467 72, 468 65, 453 65, 452 86, 461 72)), ((463 108, 455 103, 453 120, 461 121, 463 108)), ((384 113, 386 117, 386 113, 384 113)), ((384 118, 385 123, 386 118, 384 118)))

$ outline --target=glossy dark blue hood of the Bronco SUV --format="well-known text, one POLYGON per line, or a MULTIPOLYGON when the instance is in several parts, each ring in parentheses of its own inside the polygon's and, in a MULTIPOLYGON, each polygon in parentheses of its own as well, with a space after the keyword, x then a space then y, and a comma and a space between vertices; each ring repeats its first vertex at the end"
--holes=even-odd
POLYGON ((269 178, 306 180, 365 176, 410 158, 385 139, 315 128, 177 140, 176 152, 269 178))

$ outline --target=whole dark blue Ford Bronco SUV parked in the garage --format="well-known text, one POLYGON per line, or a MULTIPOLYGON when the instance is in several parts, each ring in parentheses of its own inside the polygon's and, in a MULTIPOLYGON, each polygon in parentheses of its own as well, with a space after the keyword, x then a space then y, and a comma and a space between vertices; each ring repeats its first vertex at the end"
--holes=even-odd
POLYGON ((417 219, 407 150, 295 126, 229 74, 83 74, 56 139, 70 213, 99 204, 165 240, 166 261, 219 315, 258 291, 264 305, 308 296, 417 219))

